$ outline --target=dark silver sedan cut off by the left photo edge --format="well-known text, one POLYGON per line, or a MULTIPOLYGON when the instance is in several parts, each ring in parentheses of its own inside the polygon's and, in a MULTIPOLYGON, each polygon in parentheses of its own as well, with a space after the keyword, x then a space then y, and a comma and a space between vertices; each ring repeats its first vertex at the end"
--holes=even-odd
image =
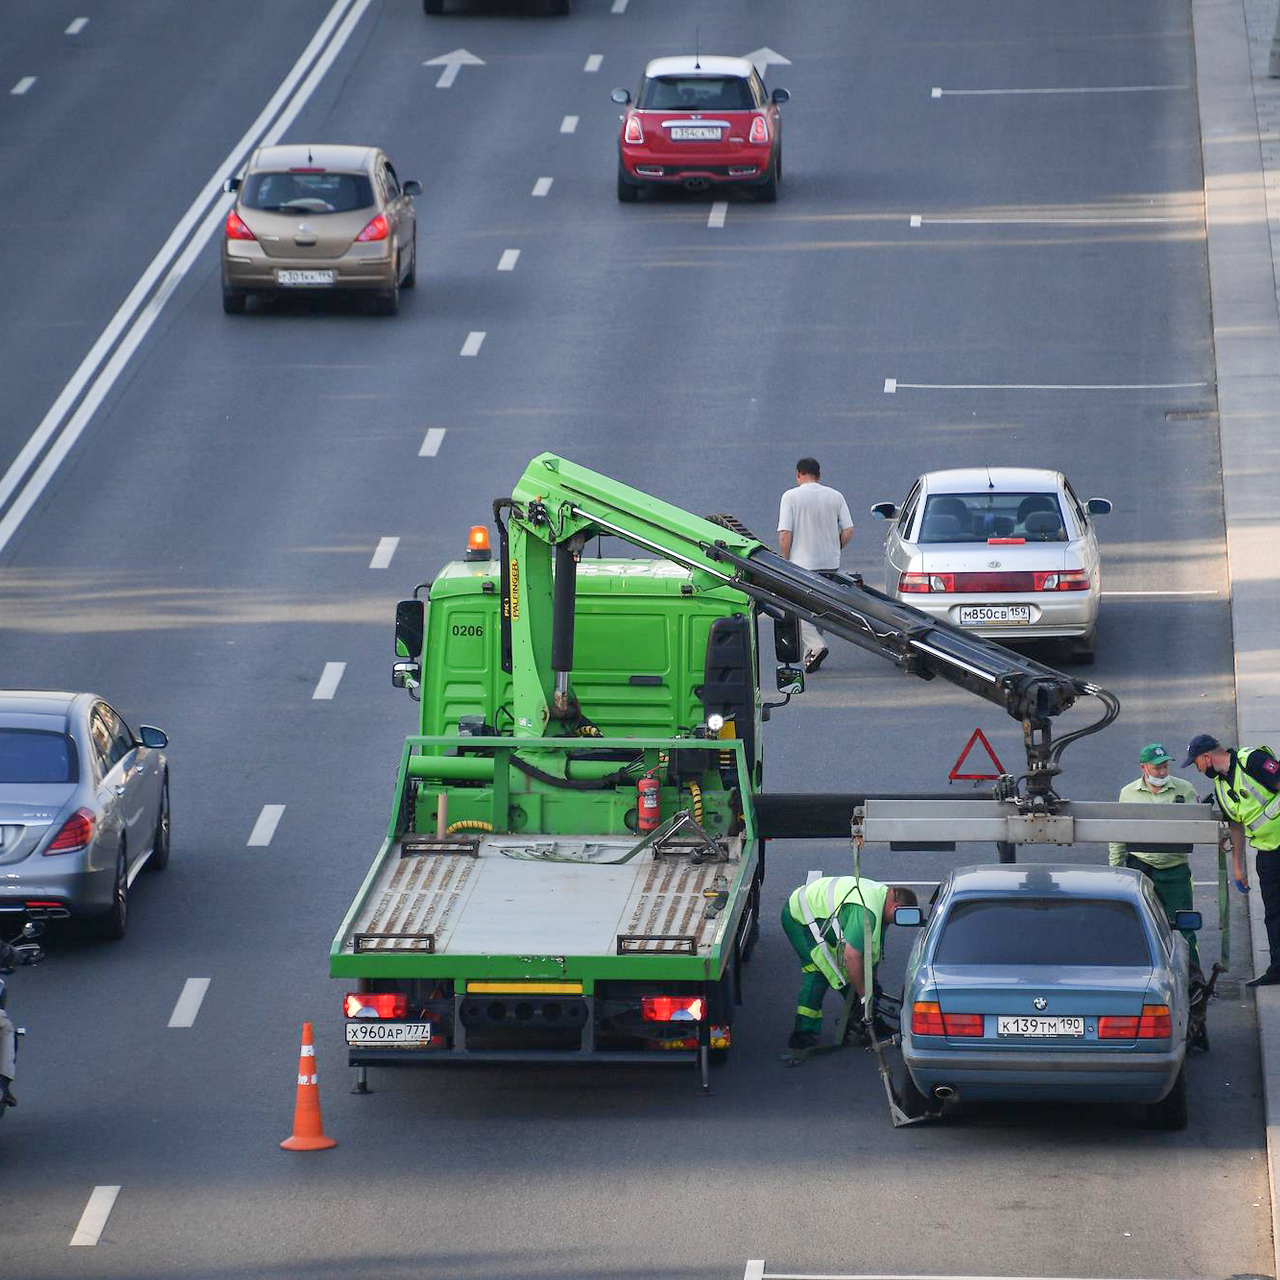
POLYGON ((169 861, 168 744, 96 694, 0 690, 0 920, 124 937, 134 877, 169 861))

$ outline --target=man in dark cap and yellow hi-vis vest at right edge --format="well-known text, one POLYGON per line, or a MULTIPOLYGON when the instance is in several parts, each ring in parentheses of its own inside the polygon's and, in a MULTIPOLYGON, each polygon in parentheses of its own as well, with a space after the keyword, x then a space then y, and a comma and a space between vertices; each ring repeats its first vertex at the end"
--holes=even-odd
POLYGON ((1212 733, 1197 733, 1183 768, 1188 764, 1213 781, 1213 795, 1231 832, 1231 874, 1242 892, 1249 887, 1245 838, 1253 845, 1270 964, 1245 987, 1271 987, 1280 983, 1280 760, 1268 746, 1226 748, 1212 733))

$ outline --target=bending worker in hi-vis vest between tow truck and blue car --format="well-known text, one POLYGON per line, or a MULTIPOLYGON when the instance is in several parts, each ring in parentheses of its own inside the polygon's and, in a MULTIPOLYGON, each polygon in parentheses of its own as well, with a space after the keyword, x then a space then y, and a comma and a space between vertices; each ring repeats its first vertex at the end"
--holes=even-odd
POLYGON ((859 996, 867 995, 883 951, 884 925, 892 924, 897 908, 915 905, 913 890, 865 876, 823 876, 787 899, 782 929, 800 957, 801 975, 787 1048, 809 1050, 818 1043, 822 997, 832 987, 852 986, 859 996))

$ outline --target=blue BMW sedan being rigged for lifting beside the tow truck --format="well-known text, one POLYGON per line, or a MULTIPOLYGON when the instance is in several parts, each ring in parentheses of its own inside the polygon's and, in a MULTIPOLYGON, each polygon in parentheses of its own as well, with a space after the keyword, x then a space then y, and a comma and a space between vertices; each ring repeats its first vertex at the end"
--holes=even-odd
MULTIPOLYGON (((1199 913, 1176 923, 1198 928, 1199 913)), ((1181 1129, 1188 964, 1139 872, 954 870, 908 961, 904 1106, 1135 1102, 1181 1129)))

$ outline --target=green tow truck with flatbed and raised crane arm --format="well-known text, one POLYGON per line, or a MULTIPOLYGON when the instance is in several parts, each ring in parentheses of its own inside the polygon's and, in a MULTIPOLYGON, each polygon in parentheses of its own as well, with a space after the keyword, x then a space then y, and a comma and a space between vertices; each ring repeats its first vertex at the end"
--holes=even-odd
POLYGON ((762 614, 785 700, 808 618, 1023 723, 1028 772, 988 801, 1010 814, 1002 856, 1061 818, 1061 748, 1119 709, 856 575, 799 568, 732 517, 553 454, 494 524, 497 561, 477 527, 397 607, 392 678, 421 732, 330 950, 357 1089, 370 1066, 495 1060, 692 1062, 708 1087, 759 933, 765 838, 847 837, 868 799, 762 792, 762 726, 783 705, 760 696, 762 614), (603 558, 604 538, 645 558, 603 558), (1052 742, 1051 718, 1085 695, 1101 719, 1052 742))

